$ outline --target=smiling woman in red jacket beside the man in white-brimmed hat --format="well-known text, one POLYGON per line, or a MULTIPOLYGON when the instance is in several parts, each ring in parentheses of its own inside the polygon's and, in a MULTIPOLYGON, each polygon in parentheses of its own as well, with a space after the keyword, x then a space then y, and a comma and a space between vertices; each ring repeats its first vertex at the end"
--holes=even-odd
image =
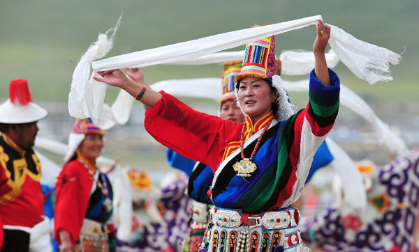
POLYGON ((96 167, 105 132, 77 119, 69 136, 64 167, 57 179, 54 237, 59 251, 116 251, 112 186, 96 167))

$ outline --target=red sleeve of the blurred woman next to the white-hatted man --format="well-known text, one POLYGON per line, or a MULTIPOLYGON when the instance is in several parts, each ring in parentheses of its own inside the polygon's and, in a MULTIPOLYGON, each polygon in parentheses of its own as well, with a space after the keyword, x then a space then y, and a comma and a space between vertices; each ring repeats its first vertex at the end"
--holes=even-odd
POLYGON ((59 244, 60 230, 70 233, 73 246, 78 241, 89 204, 92 181, 91 175, 78 161, 69 162, 61 170, 54 204, 54 237, 59 244))

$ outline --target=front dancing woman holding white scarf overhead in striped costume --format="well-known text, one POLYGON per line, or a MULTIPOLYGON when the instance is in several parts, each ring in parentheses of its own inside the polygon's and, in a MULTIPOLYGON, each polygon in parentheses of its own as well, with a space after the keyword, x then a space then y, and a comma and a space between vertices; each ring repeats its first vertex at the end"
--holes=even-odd
POLYGON ((235 77, 245 123, 194 111, 164 92, 128 80, 119 70, 99 72, 150 109, 145 127, 154 139, 214 171, 214 203, 203 251, 308 251, 297 230, 301 195, 314 153, 335 123, 339 79, 328 69, 330 27, 318 22, 309 104, 293 113, 277 75, 274 37, 247 45, 235 77))

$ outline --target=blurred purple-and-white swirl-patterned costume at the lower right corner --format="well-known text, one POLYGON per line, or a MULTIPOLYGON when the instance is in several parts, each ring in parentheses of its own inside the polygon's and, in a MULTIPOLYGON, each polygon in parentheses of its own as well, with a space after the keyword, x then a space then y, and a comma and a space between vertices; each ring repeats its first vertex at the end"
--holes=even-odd
POLYGON ((372 183, 365 209, 341 203, 300 223, 307 246, 320 251, 417 251, 419 150, 369 171, 367 177, 372 183))

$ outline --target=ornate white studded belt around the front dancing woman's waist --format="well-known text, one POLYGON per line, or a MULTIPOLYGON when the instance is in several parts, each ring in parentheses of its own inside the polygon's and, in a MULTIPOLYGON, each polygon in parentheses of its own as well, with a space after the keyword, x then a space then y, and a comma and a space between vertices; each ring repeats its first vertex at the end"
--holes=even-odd
POLYGON ((240 211, 216 209, 213 207, 210 212, 212 214, 212 222, 226 228, 263 226, 265 229, 284 229, 294 228, 300 221, 300 212, 294 207, 272 212, 261 212, 260 214, 251 214, 247 218, 246 223, 242 222, 240 211))

